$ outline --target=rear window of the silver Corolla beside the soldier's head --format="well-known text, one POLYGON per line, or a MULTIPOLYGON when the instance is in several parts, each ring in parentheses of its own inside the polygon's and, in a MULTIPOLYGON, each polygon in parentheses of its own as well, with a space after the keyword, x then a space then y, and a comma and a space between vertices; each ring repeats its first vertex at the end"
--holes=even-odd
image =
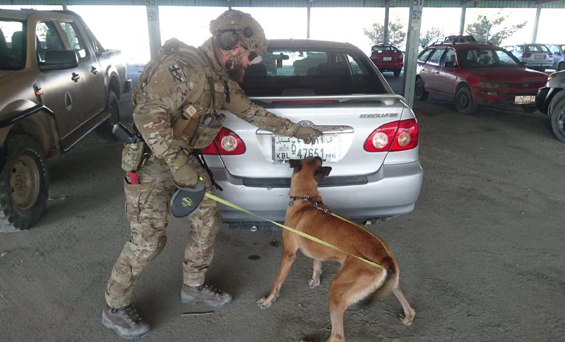
POLYGON ((270 50, 247 67, 240 84, 248 96, 385 94, 372 62, 343 50, 270 50))

